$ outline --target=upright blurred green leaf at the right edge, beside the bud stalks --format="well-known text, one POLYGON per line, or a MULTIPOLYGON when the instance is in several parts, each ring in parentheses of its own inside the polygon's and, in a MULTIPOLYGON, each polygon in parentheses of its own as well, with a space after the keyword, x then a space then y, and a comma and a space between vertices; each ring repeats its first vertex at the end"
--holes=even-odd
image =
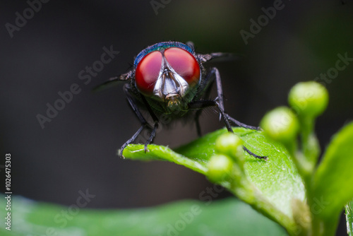
POLYGON ((313 178, 312 211, 325 219, 337 217, 353 197, 353 122, 329 144, 313 178))

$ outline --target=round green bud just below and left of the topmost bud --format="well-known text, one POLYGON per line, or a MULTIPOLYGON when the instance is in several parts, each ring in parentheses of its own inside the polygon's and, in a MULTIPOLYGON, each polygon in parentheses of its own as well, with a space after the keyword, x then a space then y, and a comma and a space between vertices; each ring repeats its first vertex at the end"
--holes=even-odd
POLYGON ((292 143, 299 131, 299 121, 288 107, 277 107, 265 114, 260 126, 268 137, 281 143, 292 143))

